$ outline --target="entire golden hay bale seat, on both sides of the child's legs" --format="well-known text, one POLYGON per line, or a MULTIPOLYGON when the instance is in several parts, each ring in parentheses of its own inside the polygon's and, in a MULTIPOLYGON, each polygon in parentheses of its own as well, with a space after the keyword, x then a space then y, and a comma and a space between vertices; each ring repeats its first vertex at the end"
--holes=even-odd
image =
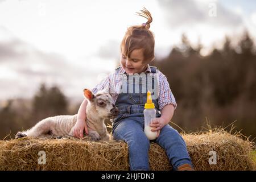
MULTIPOLYGON (((183 134, 196 170, 252 170, 250 151, 255 143, 225 131, 183 134), (217 164, 209 164, 216 151, 217 164)), ((20 138, 0 141, 0 170, 129 170, 127 144, 121 141, 90 142, 79 139, 20 138), (39 151, 46 164, 38 164, 39 151)), ((172 169, 163 148, 151 143, 152 170, 172 169)))

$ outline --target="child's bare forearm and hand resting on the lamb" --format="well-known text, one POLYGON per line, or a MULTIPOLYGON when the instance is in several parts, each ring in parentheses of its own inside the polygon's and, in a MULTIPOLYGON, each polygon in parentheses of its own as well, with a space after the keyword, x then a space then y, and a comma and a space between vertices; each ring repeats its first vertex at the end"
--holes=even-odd
POLYGON ((86 99, 82 101, 82 104, 80 105, 79 111, 77 113, 76 124, 74 126, 74 135, 77 138, 84 137, 84 130, 85 130, 85 133, 88 134, 87 125, 85 122, 87 104, 88 104, 88 101, 86 99))

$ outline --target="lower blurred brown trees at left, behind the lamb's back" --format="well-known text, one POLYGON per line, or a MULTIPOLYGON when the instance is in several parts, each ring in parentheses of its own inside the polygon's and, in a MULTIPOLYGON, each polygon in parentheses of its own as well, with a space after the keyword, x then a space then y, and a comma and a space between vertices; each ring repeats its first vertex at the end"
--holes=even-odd
MULTIPOLYGON (((0 139, 14 135, 35 125, 36 122, 55 115, 75 114, 77 107, 71 109, 69 102, 57 86, 47 88, 45 84, 32 100, 8 100, 0 110, 0 139)), ((7 139, 10 139, 7 137, 7 139)))

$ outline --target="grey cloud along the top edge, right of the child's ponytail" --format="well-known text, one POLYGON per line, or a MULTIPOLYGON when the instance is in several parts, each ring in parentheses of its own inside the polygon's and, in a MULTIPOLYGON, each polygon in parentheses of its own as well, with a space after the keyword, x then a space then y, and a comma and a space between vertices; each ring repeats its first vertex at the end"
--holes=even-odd
POLYGON ((180 26, 196 26, 207 24, 210 27, 224 26, 237 27, 243 23, 242 17, 226 9, 218 2, 195 0, 158 0, 166 18, 166 22, 172 28, 180 26), (210 16, 209 12, 216 7, 216 16, 210 16))

